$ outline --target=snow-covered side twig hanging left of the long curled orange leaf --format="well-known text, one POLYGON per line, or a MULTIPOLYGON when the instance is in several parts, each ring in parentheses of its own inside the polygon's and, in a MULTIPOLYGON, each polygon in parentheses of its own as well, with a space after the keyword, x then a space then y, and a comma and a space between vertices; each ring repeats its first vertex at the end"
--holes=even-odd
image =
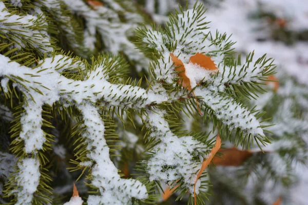
MULTIPOLYGON (((193 195, 197 173, 201 168, 199 158, 207 158, 206 145, 192 136, 176 136, 171 132, 164 115, 164 111, 156 109, 144 116, 146 126, 151 131, 150 137, 159 140, 151 150, 153 154, 150 159, 146 161, 149 180, 168 183, 181 179, 182 187, 193 195)), ((200 181, 197 185, 198 194, 200 181)))

